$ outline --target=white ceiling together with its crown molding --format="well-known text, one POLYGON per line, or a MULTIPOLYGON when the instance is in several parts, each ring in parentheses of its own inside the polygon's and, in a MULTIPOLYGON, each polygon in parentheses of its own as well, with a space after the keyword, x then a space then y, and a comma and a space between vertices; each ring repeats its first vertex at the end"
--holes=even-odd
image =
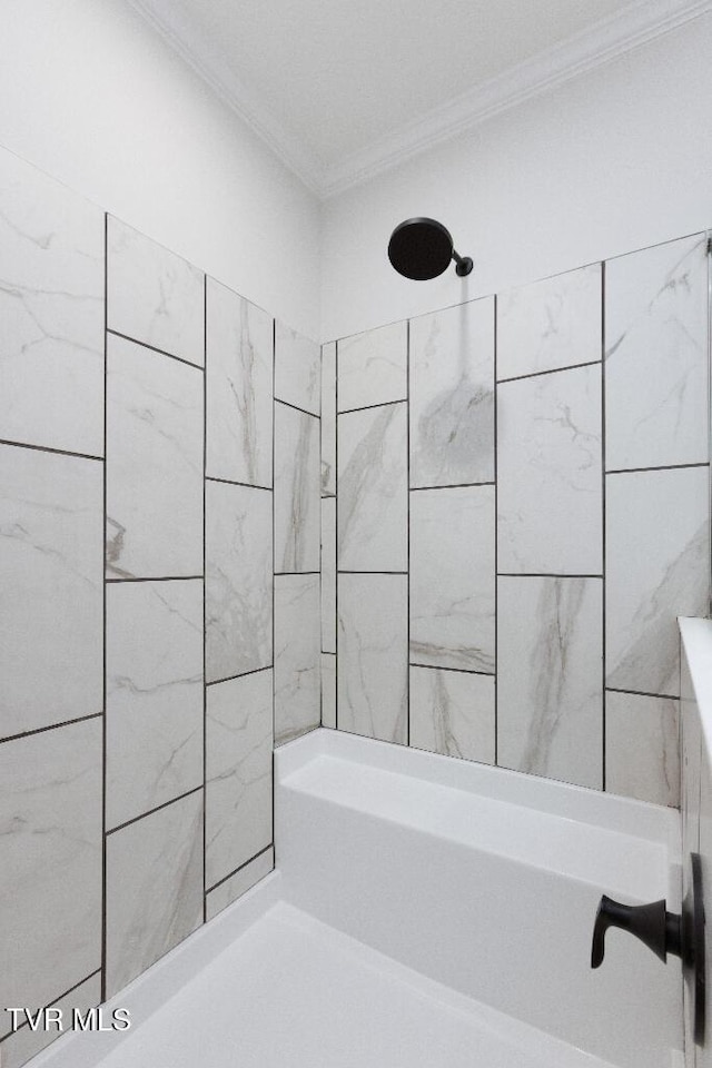
POLYGON ((322 196, 710 0, 130 0, 322 196))

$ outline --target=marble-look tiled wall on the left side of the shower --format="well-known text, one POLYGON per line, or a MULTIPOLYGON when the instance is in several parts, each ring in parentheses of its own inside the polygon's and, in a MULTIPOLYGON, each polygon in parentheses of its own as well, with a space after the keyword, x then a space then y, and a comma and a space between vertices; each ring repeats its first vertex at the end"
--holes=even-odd
POLYGON ((0 335, 17 1068, 53 1034, 4 1007, 98 1005, 274 866, 273 739, 320 715, 319 347, 9 152, 0 335))

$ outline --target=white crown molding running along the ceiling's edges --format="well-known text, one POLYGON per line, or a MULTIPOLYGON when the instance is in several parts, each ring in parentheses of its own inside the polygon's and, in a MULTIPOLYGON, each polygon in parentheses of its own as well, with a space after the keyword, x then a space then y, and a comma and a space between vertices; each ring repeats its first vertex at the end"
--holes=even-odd
POLYGON ((328 167, 230 69, 175 0, 129 0, 312 192, 326 199, 475 129, 493 116, 611 62, 712 10, 712 0, 636 0, 558 44, 474 86, 328 167))

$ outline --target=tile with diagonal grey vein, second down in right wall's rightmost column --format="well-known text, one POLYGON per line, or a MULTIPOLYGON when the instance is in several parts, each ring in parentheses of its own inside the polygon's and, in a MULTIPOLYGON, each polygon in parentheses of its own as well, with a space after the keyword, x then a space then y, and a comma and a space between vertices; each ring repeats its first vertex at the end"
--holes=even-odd
POLYGON ((675 617, 709 610, 709 469, 606 476, 606 683, 678 696, 675 617))

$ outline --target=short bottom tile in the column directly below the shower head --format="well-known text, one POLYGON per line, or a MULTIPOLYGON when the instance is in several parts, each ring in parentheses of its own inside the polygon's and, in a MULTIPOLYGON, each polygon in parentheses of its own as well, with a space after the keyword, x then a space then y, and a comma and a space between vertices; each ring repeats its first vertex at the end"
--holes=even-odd
POLYGON ((494 676, 411 668, 411 745, 494 764, 494 676))

